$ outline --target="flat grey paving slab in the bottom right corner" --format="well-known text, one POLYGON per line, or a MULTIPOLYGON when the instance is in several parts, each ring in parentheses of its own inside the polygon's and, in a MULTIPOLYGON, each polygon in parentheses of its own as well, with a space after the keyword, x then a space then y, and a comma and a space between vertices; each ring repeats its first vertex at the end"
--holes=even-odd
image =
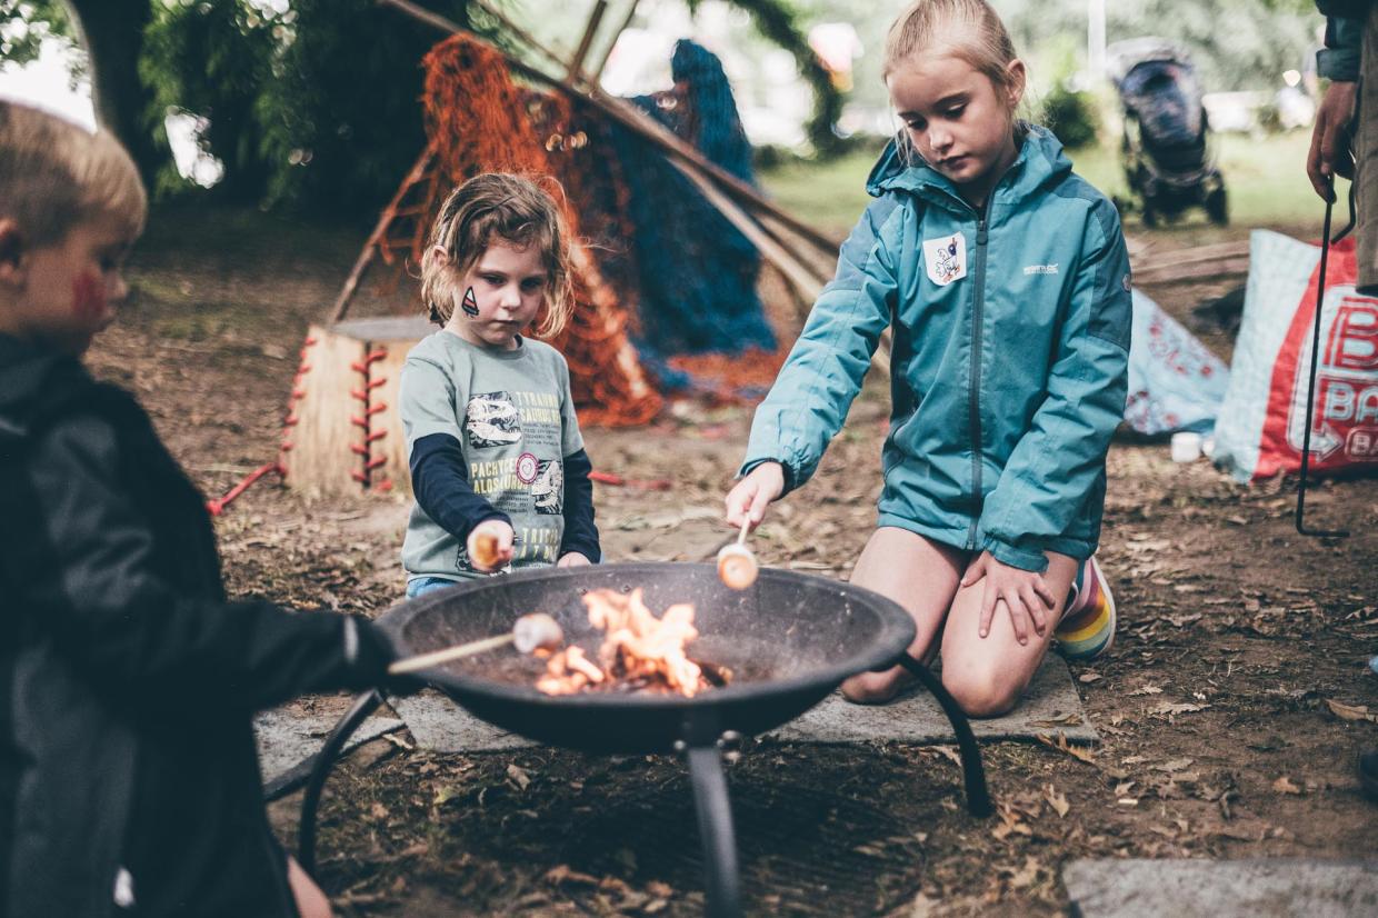
POLYGON ((1349 918, 1378 915, 1378 861, 1073 860, 1080 918, 1349 918))

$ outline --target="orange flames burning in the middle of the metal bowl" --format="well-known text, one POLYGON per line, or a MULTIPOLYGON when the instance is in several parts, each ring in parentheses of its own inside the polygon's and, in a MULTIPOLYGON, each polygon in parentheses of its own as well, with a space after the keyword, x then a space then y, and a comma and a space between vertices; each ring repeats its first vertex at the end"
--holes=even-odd
POLYGON ((678 692, 693 697, 712 685, 725 685, 730 670, 690 660, 685 648, 699 637, 693 605, 679 602, 656 618, 641 590, 621 594, 591 590, 584 594, 588 623, 604 633, 598 664, 577 646, 554 653, 536 688, 546 695, 572 695, 594 686, 624 691, 678 692), (601 664, 601 666, 599 666, 601 664), (707 670, 707 674, 706 674, 707 670))

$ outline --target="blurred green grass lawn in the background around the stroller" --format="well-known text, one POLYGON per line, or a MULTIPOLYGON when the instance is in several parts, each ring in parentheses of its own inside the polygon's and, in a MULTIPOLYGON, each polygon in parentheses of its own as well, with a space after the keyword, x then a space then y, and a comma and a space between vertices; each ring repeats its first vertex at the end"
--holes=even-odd
MULTIPOLYGON (((1215 135, 1215 154, 1229 193, 1231 223, 1236 229, 1254 226, 1297 227, 1319 232, 1323 207, 1306 181, 1308 131, 1291 131, 1262 138, 1215 135)), ((766 172, 761 181, 788 211, 820 229, 842 236, 865 208, 865 178, 879 147, 850 153, 831 163, 791 163, 766 172)), ((1119 147, 1098 146, 1069 153, 1076 171, 1107 194, 1127 194, 1119 147)), ((1342 221, 1342 215, 1337 215, 1342 221)), ((1126 221, 1144 230, 1137 215, 1126 221)), ((1197 208, 1175 226, 1158 232, 1197 233, 1206 216, 1197 208)), ((1204 241, 1204 240, 1203 240, 1204 241)))

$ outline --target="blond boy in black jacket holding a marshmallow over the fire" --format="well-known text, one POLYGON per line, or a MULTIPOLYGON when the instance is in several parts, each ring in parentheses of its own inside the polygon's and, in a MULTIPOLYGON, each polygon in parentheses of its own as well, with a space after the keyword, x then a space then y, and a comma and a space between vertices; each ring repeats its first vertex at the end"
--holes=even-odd
POLYGON ((145 214, 109 134, 0 101, 0 918, 329 915, 251 715, 379 685, 393 651, 227 601, 201 495, 80 364, 145 214))

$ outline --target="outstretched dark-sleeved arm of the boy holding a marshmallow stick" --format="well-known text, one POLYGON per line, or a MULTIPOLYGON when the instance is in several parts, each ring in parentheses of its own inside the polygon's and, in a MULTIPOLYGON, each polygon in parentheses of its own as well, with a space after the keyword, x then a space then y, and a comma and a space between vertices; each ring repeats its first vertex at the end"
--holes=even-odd
MULTIPOLYGON (((258 710, 303 692, 380 685, 393 651, 367 620, 189 595, 154 571, 154 538, 119 478, 114 429, 58 423, 6 484, 0 564, 54 651, 112 699, 258 710)), ((196 546, 193 546, 196 549, 196 546)))

